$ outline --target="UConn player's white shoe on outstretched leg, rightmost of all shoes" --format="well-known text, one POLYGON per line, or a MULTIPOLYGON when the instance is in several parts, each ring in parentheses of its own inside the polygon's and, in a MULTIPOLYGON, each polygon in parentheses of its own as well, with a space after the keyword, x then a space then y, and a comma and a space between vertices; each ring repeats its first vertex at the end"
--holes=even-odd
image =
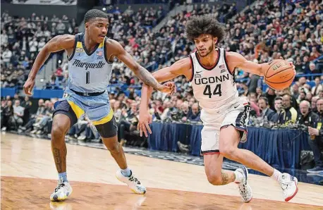
POLYGON ((285 202, 291 200, 298 192, 297 178, 288 173, 281 173, 278 179, 281 189, 283 190, 285 202))

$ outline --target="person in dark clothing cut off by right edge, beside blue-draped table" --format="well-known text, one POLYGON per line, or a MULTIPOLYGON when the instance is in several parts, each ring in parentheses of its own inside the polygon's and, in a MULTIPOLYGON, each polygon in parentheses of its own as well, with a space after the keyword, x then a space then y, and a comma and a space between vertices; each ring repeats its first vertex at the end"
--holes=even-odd
POLYGON ((308 169, 308 173, 323 173, 323 98, 318 99, 316 105, 319 117, 315 119, 314 125, 307 127, 310 134, 309 144, 315 161, 315 168, 308 169))

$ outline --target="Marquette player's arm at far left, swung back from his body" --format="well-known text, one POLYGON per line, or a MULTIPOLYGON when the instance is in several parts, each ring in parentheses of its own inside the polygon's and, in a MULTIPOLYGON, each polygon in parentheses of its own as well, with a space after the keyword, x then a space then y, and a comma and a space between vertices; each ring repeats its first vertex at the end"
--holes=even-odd
POLYGON ((42 67, 44 62, 47 60, 52 52, 61 51, 63 49, 73 49, 75 42, 74 35, 59 35, 49 40, 47 44, 39 51, 34 64, 32 65, 32 70, 28 75, 28 80, 23 85, 25 94, 31 95, 32 88, 35 85, 35 78, 38 70, 42 67))

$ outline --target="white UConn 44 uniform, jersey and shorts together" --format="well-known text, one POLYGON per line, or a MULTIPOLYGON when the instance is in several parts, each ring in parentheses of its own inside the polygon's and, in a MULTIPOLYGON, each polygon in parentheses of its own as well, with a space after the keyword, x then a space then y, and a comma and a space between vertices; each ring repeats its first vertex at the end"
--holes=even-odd
POLYGON ((236 82, 226 63, 226 51, 222 48, 217 51, 217 61, 211 68, 202 66, 197 51, 190 54, 194 97, 202 107, 202 154, 221 152, 220 130, 227 125, 242 131, 239 132, 241 142, 246 140, 250 107, 245 99, 239 97, 236 82))

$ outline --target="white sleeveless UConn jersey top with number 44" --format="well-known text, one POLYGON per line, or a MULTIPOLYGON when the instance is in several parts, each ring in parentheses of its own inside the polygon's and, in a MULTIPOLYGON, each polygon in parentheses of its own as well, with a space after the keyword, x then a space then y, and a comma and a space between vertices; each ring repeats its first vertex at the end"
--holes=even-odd
POLYGON ((219 113, 219 109, 239 100, 236 82, 226 65, 226 52, 222 48, 217 51, 217 62, 211 68, 202 66, 197 51, 190 54, 194 97, 200 102, 202 113, 219 113))

